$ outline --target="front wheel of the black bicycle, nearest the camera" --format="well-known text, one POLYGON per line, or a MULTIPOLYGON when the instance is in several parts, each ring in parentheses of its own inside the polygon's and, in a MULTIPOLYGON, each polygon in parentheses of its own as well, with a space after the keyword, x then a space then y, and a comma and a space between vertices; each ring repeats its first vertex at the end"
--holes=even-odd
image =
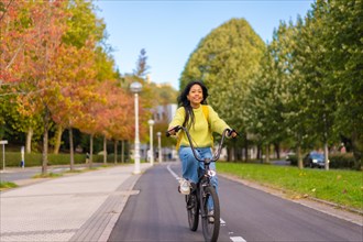
POLYGON ((201 191, 201 224, 206 241, 217 241, 220 228, 219 198, 215 187, 207 186, 201 191))

